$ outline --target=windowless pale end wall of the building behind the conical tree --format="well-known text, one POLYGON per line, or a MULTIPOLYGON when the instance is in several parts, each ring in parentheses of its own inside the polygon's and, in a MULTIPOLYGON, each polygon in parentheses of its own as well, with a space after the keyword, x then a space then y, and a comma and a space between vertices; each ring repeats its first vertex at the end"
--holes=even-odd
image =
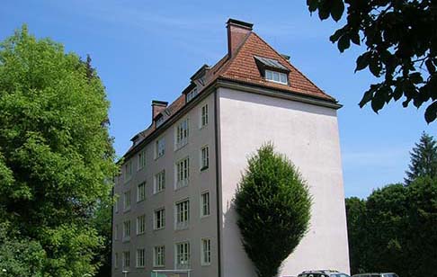
POLYGON ((267 141, 299 167, 314 199, 308 235, 284 262, 280 276, 314 269, 349 273, 336 111, 219 88, 218 113, 222 276, 255 276, 241 245, 232 200, 247 157, 267 141))

